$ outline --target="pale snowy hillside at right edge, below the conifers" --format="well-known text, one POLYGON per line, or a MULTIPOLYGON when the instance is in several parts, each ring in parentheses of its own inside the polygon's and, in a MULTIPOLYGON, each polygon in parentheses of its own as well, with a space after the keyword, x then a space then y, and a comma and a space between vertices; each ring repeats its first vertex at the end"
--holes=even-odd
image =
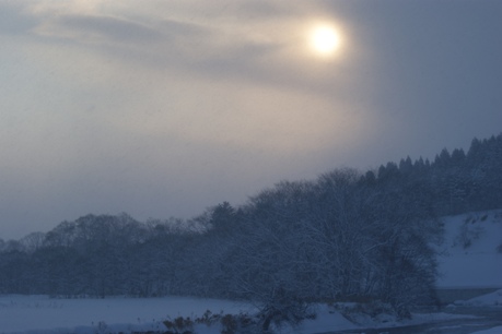
POLYGON ((445 217, 440 288, 502 288, 502 210, 445 217))

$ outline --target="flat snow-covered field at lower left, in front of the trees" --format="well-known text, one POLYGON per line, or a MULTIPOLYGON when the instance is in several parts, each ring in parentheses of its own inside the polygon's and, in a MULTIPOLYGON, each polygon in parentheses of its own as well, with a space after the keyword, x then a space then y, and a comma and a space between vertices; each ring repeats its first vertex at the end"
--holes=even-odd
POLYGON ((163 320, 249 311, 249 305, 182 297, 50 299, 47 296, 0 296, 0 333, 95 333, 165 330, 163 320), (59 330, 55 330, 59 329, 59 330), (103 331, 105 332, 105 331, 103 331))

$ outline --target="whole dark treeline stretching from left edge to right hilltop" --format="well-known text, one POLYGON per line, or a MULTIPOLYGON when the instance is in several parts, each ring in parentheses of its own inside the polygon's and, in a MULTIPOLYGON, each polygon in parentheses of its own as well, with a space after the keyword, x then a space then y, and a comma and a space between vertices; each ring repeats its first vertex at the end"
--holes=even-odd
POLYGON ((0 294, 202 296, 281 309, 382 300, 406 314, 434 300, 437 217, 502 204, 502 134, 433 162, 283 181, 188 222, 87 215, 0 239, 0 294))

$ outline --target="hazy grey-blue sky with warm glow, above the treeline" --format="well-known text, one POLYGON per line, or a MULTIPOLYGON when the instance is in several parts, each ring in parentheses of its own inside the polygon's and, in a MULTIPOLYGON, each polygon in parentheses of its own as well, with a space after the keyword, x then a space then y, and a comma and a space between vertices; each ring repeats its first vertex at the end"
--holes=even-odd
POLYGON ((467 148, 502 131, 501 17, 500 0, 0 0, 0 238, 467 148))

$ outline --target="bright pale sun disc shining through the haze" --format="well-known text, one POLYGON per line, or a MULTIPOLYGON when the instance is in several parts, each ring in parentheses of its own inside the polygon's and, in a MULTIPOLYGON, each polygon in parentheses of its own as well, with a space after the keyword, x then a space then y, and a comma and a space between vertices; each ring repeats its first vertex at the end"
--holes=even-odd
POLYGON ((340 35, 329 24, 318 24, 308 34, 311 49, 320 57, 330 57, 340 47, 340 35))

